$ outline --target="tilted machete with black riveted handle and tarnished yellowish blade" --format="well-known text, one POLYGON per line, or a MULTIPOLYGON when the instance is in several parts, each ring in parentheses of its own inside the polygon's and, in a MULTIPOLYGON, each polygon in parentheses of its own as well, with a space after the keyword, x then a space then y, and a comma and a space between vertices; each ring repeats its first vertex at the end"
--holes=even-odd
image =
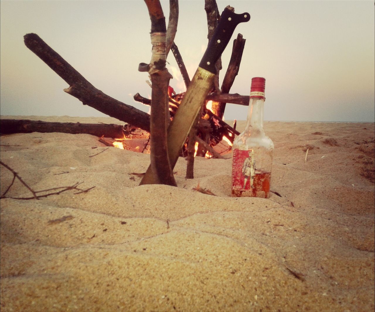
MULTIPOLYGON (((228 8, 225 8, 222 12, 219 24, 210 42, 208 42, 207 49, 199 63, 198 69, 168 127, 168 156, 172 169, 178 160, 181 148, 186 141, 194 120, 212 87, 216 75, 216 61, 219 59, 226 45, 228 45, 236 26, 239 23, 249 20, 249 13, 236 14, 228 8)), ((157 179, 149 166, 139 185, 155 183, 157 183, 157 179)))

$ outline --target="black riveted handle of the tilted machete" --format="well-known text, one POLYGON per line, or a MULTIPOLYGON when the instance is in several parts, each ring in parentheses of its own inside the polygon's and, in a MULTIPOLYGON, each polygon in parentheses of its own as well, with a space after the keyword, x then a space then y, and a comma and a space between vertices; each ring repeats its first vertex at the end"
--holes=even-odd
POLYGON ((216 74, 215 63, 224 51, 226 45, 228 45, 234 29, 239 23, 247 22, 249 20, 249 13, 236 14, 225 8, 210 42, 208 42, 207 49, 199 63, 199 67, 216 74))

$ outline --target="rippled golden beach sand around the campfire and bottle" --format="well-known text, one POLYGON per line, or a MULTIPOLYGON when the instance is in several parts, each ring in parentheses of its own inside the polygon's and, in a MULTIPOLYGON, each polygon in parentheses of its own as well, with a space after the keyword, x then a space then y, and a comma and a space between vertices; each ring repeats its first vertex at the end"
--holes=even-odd
MULTIPOLYGON (((269 199, 230 197, 231 159, 198 157, 187 180, 180 158, 178 187, 138 186, 148 154, 1 136, 1 161, 32 189, 95 186, 1 199, 1 311, 374 311, 374 123, 265 130, 281 195, 269 199)), ((12 178, 1 166, 1 194, 12 178)), ((32 194, 16 179, 6 196, 32 194)))

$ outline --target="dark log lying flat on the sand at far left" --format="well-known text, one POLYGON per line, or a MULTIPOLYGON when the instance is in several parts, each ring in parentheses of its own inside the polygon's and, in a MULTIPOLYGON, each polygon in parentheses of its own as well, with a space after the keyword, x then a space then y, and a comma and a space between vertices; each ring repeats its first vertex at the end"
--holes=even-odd
POLYGON ((86 133, 106 138, 123 138, 123 126, 120 124, 101 123, 72 123, 72 122, 49 122, 27 119, 1 119, 0 133, 31 133, 31 132, 62 132, 62 133, 86 133))

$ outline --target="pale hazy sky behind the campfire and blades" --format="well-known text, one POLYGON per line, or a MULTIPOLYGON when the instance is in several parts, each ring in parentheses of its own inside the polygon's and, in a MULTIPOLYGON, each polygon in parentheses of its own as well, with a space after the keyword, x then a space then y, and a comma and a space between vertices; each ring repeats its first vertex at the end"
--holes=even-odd
MULTIPOLYGON (((104 114, 63 91, 68 85, 23 42, 38 34, 96 88, 142 111, 151 95, 139 63, 151 58, 150 19, 142 0, 1 1, 1 115, 104 114)), ((168 23, 169 1, 162 0, 168 23)), ((222 55, 228 66, 237 33, 246 39, 231 93, 249 95, 252 77, 266 78, 265 120, 375 121, 374 1, 217 0, 251 20, 237 26, 222 55)), ((190 79, 207 47, 204 0, 180 0, 175 43, 190 79)), ((176 92, 184 84, 173 54, 167 68, 176 92)), ((227 104, 226 120, 248 107, 227 104)))

